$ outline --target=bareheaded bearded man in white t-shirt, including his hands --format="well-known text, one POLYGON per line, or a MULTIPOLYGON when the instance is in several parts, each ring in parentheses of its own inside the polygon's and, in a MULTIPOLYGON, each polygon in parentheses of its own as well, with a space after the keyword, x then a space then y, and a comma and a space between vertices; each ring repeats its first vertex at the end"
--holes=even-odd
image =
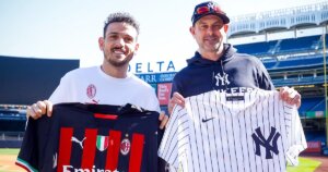
MULTIPOLYGON (((113 13, 107 17, 104 35, 98 38, 104 61, 99 66, 77 69, 67 73, 49 100, 37 101, 27 115, 38 119, 51 115, 52 105, 82 102, 122 106, 132 103, 147 110, 161 111, 154 89, 131 73, 129 62, 139 49, 139 24, 128 13, 113 13)), ((161 128, 167 116, 160 115, 161 128)))

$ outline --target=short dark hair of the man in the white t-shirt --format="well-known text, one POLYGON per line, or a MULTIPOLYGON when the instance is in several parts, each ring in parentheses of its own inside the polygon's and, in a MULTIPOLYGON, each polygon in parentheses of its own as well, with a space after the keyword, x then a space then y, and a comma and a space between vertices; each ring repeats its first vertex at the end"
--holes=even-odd
POLYGON ((134 20, 134 17, 126 12, 117 12, 117 13, 112 13, 108 15, 107 20, 105 21, 105 26, 104 26, 104 37, 106 36, 106 30, 107 27, 110 23, 115 23, 115 22, 124 22, 127 23, 129 25, 131 25, 132 27, 136 28, 137 30, 137 37, 139 35, 139 23, 134 20))

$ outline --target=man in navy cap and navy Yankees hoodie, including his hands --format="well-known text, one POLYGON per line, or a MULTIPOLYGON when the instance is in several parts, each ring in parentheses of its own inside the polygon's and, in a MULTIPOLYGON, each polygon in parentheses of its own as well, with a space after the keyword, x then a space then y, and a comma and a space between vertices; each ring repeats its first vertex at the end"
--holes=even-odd
MULTIPOLYGON (((237 53, 232 45, 225 44, 230 19, 218 3, 208 1, 195 7, 190 34, 198 44, 188 65, 173 79, 168 112, 185 97, 210 90, 241 93, 253 88, 273 90, 274 86, 261 61, 253 56, 237 53)), ((282 100, 301 106, 301 95, 293 88, 280 89, 282 100)))

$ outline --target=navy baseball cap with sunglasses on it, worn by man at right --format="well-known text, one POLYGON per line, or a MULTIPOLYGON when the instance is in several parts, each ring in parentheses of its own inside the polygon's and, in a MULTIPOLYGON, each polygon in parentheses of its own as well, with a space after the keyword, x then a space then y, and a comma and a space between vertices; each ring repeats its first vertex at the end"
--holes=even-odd
POLYGON ((220 5, 216 2, 208 1, 199 3, 195 7, 191 16, 192 25, 195 25, 195 23, 201 17, 210 14, 219 16, 224 24, 227 24, 230 22, 230 19, 226 16, 225 12, 221 10, 220 5))

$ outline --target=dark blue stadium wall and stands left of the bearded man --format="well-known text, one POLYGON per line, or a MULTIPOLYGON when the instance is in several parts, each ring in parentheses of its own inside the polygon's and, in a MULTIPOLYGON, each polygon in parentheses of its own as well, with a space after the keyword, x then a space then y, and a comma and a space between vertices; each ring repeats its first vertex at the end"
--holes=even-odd
POLYGON ((21 147, 26 107, 47 99, 80 60, 0 56, 0 148, 21 147))

